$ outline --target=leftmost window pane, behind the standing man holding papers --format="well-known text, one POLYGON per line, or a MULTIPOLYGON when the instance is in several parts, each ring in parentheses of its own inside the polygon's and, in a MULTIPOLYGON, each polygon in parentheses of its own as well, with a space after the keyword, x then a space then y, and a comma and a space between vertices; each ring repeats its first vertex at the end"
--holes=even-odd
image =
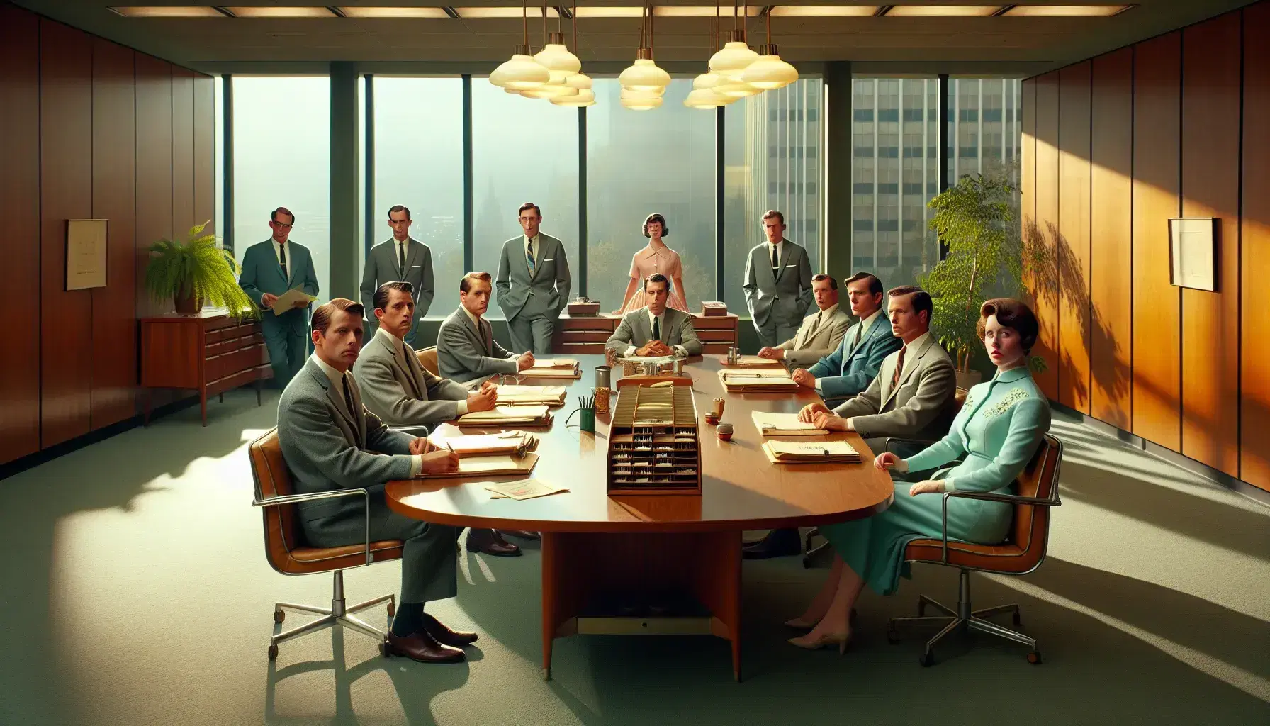
POLYGON ((269 239, 269 212, 296 215, 330 298, 330 79, 234 76, 234 254, 269 239))

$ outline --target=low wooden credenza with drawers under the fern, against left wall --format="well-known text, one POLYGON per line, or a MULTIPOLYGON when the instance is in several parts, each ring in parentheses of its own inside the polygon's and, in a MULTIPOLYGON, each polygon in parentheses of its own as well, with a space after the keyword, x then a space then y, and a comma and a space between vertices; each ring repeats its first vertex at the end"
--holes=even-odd
POLYGON ((146 389, 147 423, 155 388, 197 390, 207 426, 208 397, 254 383, 259 406, 262 383, 272 376, 264 336, 255 320, 239 322, 213 309, 141 319, 141 387, 146 389))

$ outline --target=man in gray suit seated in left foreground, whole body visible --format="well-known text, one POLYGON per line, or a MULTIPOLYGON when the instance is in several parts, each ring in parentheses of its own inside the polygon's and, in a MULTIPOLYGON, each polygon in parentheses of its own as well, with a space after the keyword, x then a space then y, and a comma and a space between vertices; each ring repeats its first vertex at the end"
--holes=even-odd
POLYGON ((335 496, 300 502, 301 529, 314 547, 363 545, 403 539, 401 604, 392 619, 392 654, 424 662, 464 660, 460 650, 476 633, 456 632, 424 613, 429 600, 457 592, 455 540, 460 530, 428 524, 389 509, 391 479, 458 468, 453 451, 436 450, 422 437, 392 431, 362 406, 348 370, 362 347, 362 305, 344 298, 312 314, 314 353, 278 402, 278 442, 296 493, 366 490, 367 497, 335 496), (370 507, 370 531, 366 529, 370 507))

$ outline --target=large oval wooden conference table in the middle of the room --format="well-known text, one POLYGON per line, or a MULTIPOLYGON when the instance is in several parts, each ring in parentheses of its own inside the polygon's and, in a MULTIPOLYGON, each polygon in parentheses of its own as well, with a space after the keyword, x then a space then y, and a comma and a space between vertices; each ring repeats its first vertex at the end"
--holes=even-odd
POLYGON ((725 367, 723 359, 707 356, 690 359, 685 366, 693 379, 700 417, 701 496, 610 497, 605 487, 608 416, 596 417, 594 434, 564 426, 577 398, 591 392, 594 367, 603 365, 603 356, 579 360, 580 380, 541 381, 568 384, 569 394, 550 427, 538 430, 540 459, 532 473, 569 492, 491 500, 474 481, 394 481, 387 484, 389 506, 438 524, 542 533, 544 679, 551 676, 551 643, 558 637, 658 632, 732 641, 733 675, 740 680, 740 533, 871 516, 890 506, 890 477, 872 467, 856 434, 803 439, 851 441, 864 458, 861 464, 768 463, 751 411, 796 412, 818 401, 815 392, 725 394, 716 374, 725 367), (705 422, 716 395, 726 397, 723 420, 735 427, 732 441, 720 441, 705 422), (606 599, 625 603, 632 595, 668 592, 691 596, 707 614, 648 617, 622 608, 597 609, 606 599))

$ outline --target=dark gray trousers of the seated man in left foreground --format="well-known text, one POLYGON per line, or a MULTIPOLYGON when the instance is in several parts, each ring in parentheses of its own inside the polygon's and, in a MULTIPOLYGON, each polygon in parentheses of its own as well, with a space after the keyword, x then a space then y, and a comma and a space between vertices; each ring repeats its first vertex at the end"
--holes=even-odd
MULTIPOLYGON (((384 484, 367 490, 371 495, 371 542, 404 539, 401 553, 401 601, 427 603, 458 594, 457 549, 461 528, 428 524, 389 509, 384 484)), ((314 547, 362 544, 366 512, 361 497, 347 497, 338 514, 304 523, 305 538, 314 547)))

